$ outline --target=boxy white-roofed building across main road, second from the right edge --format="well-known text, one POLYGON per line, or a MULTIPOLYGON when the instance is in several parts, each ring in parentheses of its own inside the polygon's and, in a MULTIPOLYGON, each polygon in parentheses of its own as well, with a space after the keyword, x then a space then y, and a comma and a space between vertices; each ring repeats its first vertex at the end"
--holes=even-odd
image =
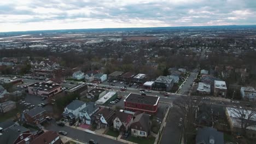
POLYGON ((214 81, 214 97, 226 97, 226 82, 225 81, 214 81))

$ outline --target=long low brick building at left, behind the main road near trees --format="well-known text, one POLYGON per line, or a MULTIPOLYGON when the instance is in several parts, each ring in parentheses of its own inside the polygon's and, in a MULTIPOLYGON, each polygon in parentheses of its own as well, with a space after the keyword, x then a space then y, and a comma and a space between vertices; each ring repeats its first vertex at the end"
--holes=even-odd
POLYGON ((56 76, 61 75, 61 69, 54 68, 42 68, 42 69, 34 69, 33 74, 34 76, 38 77, 49 77, 49 78, 55 78, 56 76))

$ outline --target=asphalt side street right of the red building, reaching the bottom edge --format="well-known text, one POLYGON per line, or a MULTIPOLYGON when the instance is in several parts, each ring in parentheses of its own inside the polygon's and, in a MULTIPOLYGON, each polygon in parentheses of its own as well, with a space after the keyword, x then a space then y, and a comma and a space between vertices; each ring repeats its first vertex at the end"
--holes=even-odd
POLYGON ((172 107, 166 121, 166 126, 160 140, 161 144, 178 144, 181 137, 181 128, 178 127, 179 116, 177 108, 172 107))

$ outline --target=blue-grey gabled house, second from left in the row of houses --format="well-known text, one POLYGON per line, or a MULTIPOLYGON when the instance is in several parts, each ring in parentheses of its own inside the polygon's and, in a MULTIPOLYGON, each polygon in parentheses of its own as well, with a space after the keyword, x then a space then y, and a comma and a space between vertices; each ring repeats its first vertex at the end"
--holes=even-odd
POLYGON ((92 123, 92 115, 98 111, 99 107, 94 102, 86 103, 86 107, 79 111, 79 117, 83 124, 92 123))

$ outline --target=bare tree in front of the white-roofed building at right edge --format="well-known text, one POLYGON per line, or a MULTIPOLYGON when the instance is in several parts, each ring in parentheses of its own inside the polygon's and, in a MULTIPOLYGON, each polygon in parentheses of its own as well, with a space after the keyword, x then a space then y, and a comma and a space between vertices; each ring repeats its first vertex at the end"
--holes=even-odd
POLYGON ((241 106, 237 107, 229 107, 228 110, 230 111, 232 117, 238 118, 241 122, 241 135, 246 135, 246 129, 252 125, 255 125, 256 111, 254 109, 249 109, 249 107, 241 106))

